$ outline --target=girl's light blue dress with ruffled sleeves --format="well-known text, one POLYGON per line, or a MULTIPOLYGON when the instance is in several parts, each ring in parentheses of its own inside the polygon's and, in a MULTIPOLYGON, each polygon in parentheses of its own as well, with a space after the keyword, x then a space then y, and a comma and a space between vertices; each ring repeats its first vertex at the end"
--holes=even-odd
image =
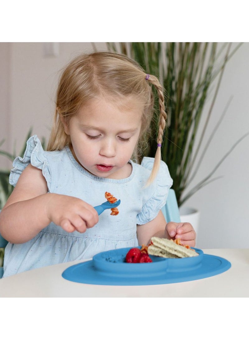
MULTIPOLYGON (((78 197, 92 206, 105 202, 105 192, 121 200, 119 214, 105 210, 99 222, 83 234, 67 233, 50 223, 32 240, 23 244, 8 243, 4 256, 4 277, 26 270, 61 262, 92 258, 116 248, 138 245, 137 224, 152 221, 165 205, 172 179, 161 161, 156 180, 145 187, 154 158, 145 157, 139 165, 132 160, 131 175, 122 180, 97 177, 83 169, 70 148, 44 151, 35 135, 27 142, 23 158, 17 157, 11 170, 10 183, 16 185, 21 172, 30 163, 42 170, 48 192, 78 197)), ((32 214, 32 211, 31 211, 32 214)))

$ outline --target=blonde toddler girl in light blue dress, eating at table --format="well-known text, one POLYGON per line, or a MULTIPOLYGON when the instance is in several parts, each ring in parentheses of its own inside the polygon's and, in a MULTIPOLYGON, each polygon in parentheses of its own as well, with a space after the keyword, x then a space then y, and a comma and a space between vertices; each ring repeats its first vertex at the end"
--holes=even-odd
POLYGON ((124 55, 84 54, 64 69, 48 151, 35 135, 13 163, 15 188, 0 214, 10 242, 4 276, 147 244, 152 236, 195 245, 191 224, 166 224, 161 212, 172 186, 160 156, 163 98, 158 79, 124 55), (153 117, 151 85, 159 99, 158 148, 155 160, 139 164, 153 117), (116 216, 93 208, 106 191, 121 200, 116 216))

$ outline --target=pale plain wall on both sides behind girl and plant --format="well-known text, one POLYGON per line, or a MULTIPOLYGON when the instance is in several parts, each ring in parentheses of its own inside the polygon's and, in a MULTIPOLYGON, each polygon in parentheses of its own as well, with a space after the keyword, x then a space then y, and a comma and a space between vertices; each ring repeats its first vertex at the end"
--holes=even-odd
MULTIPOLYGON (((106 49, 105 43, 96 45, 106 49)), ((30 126, 39 137, 45 136, 48 140, 58 71, 76 54, 90 51, 91 43, 60 43, 58 56, 45 57, 43 43, 0 43, 0 140, 7 139, 7 150, 12 150, 16 140, 18 153, 30 126)), ((226 66, 204 140, 231 95, 233 100, 193 184, 203 179, 233 143, 249 131, 248 60, 249 43, 245 43, 226 66)), ((202 188, 185 204, 201 212, 199 248, 248 248, 248 145, 249 137, 217 170, 215 176, 223 177, 202 188)), ((0 157, 0 168, 3 166, 5 160, 0 157)))

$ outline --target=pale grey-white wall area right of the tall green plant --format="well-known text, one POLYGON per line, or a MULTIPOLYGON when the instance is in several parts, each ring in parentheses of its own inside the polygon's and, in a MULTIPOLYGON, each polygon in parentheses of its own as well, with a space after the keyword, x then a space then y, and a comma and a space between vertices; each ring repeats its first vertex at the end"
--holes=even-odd
MULTIPOLYGON (((232 102, 195 182, 207 175, 233 143, 249 131, 248 57, 249 43, 244 43, 226 66, 208 134, 231 95, 232 102)), ((200 248, 248 248, 248 146, 249 136, 233 150, 214 175, 223 177, 203 187, 185 204, 197 207, 201 212, 197 244, 200 248)))

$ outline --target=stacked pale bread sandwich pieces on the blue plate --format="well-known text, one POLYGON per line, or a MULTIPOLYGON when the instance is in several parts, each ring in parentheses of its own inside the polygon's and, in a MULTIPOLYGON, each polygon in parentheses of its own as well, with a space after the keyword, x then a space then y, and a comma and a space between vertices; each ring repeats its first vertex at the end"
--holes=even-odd
POLYGON ((165 258, 193 257, 199 254, 190 246, 182 245, 180 239, 168 240, 166 238, 152 237, 148 245, 148 254, 165 258))

